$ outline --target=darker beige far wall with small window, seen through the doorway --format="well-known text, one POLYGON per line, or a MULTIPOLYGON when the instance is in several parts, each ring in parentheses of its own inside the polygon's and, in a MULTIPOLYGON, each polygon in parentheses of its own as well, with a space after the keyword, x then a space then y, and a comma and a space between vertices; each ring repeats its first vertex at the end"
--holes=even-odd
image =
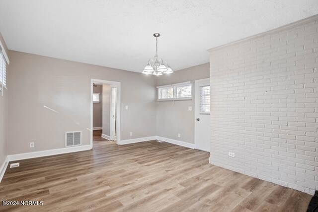
POLYGON ((99 103, 93 104, 93 127, 103 126, 103 86, 93 87, 94 93, 99 93, 99 103))

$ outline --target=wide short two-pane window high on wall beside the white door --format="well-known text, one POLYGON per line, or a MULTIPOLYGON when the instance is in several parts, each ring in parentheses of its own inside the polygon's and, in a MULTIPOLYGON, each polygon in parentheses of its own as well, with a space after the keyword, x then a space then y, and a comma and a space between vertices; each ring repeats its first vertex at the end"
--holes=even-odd
POLYGON ((158 100, 189 100, 192 98, 191 82, 177 83, 157 87, 158 100))

